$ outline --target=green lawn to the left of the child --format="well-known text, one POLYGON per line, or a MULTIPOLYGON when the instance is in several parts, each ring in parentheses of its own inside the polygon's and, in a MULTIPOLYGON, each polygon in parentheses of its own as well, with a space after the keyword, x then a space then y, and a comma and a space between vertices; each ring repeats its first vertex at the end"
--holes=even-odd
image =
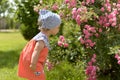
POLYGON ((0 80, 24 80, 17 76, 17 68, 26 42, 19 32, 0 33, 0 80))

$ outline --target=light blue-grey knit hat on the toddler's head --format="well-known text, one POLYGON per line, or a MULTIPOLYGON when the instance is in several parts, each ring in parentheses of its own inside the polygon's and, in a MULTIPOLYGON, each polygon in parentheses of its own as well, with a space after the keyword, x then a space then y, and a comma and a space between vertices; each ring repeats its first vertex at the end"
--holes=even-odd
POLYGON ((60 16, 49 10, 40 10, 39 15, 39 20, 42 22, 42 28, 52 29, 61 24, 60 16))

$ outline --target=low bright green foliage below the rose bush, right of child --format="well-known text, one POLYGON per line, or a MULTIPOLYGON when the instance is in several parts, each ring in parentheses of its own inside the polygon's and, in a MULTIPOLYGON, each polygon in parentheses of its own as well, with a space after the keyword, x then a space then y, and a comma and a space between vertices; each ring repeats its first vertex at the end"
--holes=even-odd
POLYGON ((46 71, 47 80, 85 80, 84 63, 77 65, 62 61, 52 70, 46 71))

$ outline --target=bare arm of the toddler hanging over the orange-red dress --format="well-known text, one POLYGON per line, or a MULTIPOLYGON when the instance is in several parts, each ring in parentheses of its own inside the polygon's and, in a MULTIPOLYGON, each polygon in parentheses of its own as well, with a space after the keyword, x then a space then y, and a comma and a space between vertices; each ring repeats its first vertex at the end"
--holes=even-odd
POLYGON ((38 61, 38 58, 39 58, 39 54, 40 54, 41 50, 44 48, 44 46, 45 45, 44 45, 43 41, 37 41, 36 42, 36 45, 35 45, 35 48, 34 48, 34 51, 33 51, 32 57, 31 57, 30 68, 32 70, 36 69, 36 64, 37 64, 37 61, 38 61))

